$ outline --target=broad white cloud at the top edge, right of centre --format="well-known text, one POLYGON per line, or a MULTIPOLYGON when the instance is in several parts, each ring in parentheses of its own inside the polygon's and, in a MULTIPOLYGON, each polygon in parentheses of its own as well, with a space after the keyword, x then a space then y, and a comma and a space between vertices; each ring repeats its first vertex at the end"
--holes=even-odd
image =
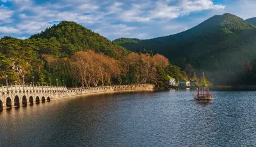
POLYGON ((159 0, 131 3, 128 9, 122 7, 124 7, 123 3, 112 3, 107 13, 114 14, 115 19, 124 22, 148 22, 154 19, 175 19, 190 12, 225 8, 221 4, 214 4, 211 0, 159 0))

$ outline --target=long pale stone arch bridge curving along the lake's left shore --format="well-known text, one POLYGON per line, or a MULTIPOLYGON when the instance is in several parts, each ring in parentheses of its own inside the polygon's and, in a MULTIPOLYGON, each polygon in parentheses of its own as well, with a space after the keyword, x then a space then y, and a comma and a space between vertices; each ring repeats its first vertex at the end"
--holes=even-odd
POLYGON ((134 84, 122 86, 101 86, 93 88, 66 88, 53 86, 28 86, 15 85, 3 86, 0 88, 0 111, 4 108, 20 107, 21 105, 40 104, 69 98, 78 95, 88 95, 93 93, 113 93, 127 91, 153 91, 153 84, 134 84))

